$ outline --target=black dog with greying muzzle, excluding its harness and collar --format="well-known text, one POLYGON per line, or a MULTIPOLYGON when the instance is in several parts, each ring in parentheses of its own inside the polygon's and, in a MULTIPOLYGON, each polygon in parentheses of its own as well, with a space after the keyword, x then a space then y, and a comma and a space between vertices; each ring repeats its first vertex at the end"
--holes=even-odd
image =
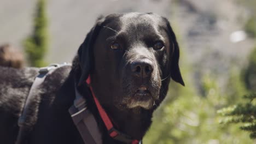
MULTIPOLYGON (((93 91, 117 129, 141 140, 152 113, 165 98, 170 78, 184 85, 178 66, 179 47, 164 17, 148 13, 101 17, 79 47, 72 67, 62 67, 46 77, 35 93, 28 143, 83 143, 68 113, 74 87, 88 100, 88 108, 102 131, 103 143, 113 140, 98 115, 86 86, 93 91), (78 83, 77 86, 74 83, 78 83)), ((0 68, 0 143, 15 143, 25 99, 37 68, 0 68)))

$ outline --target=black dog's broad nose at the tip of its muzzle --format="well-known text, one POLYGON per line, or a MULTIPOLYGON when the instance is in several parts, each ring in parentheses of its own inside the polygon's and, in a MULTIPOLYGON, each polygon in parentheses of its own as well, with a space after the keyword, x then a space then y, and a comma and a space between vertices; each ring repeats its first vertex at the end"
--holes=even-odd
POLYGON ((132 74, 141 78, 150 76, 153 70, 153 63, 149 59, 142 59, 131 63, 132 74))

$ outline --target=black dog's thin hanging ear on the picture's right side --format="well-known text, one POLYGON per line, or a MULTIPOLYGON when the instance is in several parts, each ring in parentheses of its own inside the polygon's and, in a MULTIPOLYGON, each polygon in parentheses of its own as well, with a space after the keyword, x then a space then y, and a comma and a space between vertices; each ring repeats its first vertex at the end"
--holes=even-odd
POLYGON ((183 82, 181 71, 179 70, 179 45, 176 40, 176 36, 171 28, 170 23, 166 18, 164 18, 167 23, 168 37, 170 41, 170 62, 171 62, 171 77, 172 80, 181 83, 185 86, 183 82))

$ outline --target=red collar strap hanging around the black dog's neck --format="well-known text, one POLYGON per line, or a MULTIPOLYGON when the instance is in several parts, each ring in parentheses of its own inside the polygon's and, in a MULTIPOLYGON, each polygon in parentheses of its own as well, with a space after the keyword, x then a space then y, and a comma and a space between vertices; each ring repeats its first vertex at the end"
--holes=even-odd
POLYGON ((95 97, 94 91, 92 90, 91 87, 91 77, 90 75, 88 76, 88 79, 86 80, 87 85, 89 86, 91 90, 92 97, 94 98, 95 104, 97 106, 98 112, 100 113, 101 119, 103 120, 107 130, 108 134, 110 137, 112 137, 115 140, 119 140, 125 143, 131 143, 131 144, 138 144, 139 140, 132 140, 130 136, 125 135, 118 131, 117 129, 114 128, 113 123, 110 121, 110 118, 108 117, 106 111, 103 109, 101 106, 100 102, 98 99, 95 97))

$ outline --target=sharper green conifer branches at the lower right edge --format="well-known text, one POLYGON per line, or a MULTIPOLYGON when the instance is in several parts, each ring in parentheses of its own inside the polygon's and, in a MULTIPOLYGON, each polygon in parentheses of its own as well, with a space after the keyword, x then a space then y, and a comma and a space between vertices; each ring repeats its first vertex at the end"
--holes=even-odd
MULTIPOLYGON (((247 91, 251 94, 247 94, 243 97, 244 100, 239 100, 239 103, 233 106, 225 107, 218 111, 222 115, 220 123, 223 125, 228 125, 231 123, 242 123, 240 129, 249 131, 251 139, 256 139, 256 103, 255 92, 256 88, 256 47, 249 56, 248 67, 243 72, 244 81, 240 83, 245 83, 247 91), (246 101, 245 101, 246 100, 246 101)), ((241 93, 234 93, 236 95, 242 95, 241 93)), ((234 103, 233 103, 234 104, 234 103)))

